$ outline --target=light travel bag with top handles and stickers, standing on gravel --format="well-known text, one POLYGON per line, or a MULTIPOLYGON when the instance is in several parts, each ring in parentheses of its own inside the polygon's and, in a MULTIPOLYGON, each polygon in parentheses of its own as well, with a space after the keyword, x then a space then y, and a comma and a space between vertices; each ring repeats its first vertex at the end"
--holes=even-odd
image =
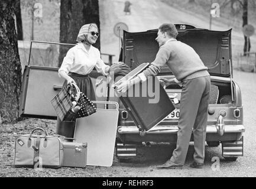
POLYGON ((63 165, 63 144, 60 138, 48 136, 42 128, 20 136, 15 142, 14 167, 60 168, 63 165), (41 130, 44 135, 34 135, 41 130))

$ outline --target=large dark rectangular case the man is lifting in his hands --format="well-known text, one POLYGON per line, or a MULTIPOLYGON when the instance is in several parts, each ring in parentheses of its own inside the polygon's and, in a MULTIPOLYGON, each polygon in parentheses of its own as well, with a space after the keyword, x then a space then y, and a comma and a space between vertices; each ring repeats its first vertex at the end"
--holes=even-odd
MULTIPOLYGON (((132 70, 118 82, 134 78, 143 70, 147 69, 148 66, 149 63, 140 64, 140 66, 132 70)), ((161 86, 157 77, 149 77, 147 82, 135 84, 127 90, 126 94, 120 96, 119 99, 125 106, 125 109, 127 109, 129 115, 131 115, 140 132, 150 131, 151 128, 158 125, 158 123, 175 109, 170 97, 168 97, 166 90, 161 86), (159 90, 155 90, 157 87, 159 90), (159 94, 156 94, 159 96, 155 97, 156 99, 154 100, 150 92, 159 92, 159 94)))

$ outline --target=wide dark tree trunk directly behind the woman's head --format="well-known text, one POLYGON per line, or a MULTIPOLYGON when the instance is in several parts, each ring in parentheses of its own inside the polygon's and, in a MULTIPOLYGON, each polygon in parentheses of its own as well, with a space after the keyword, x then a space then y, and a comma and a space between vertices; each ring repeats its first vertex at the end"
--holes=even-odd
MULTIPOLYGON (((98 0, 61 0, 60 1, 60 43, 76 44, 76 37, 82 25, 99 24, 98 0)), ((100 28, 99 28, 100 31, 100 28)), ((94 47, 100 50, 100 36, 94 47)), ((63 45, 62 45, 63 46, 63 45)), ((59 67, 72 46, 60 47, 59 67)))

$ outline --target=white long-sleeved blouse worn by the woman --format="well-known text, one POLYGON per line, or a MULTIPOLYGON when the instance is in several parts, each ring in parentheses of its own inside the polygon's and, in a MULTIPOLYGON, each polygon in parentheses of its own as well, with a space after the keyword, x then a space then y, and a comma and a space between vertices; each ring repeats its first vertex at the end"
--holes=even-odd
POLYGON ((89 74, 94 67, 104 76, 109 74, 105 73, 105 69, 109 66, 101 59, 101 53, 99 53, 98 48, 90 46, 90 50, 87 51, 82 43, 77 43, 67 51, 66 57, 63 58, 59 73, 60 71, 65 71, 67 74, 69 72, 74 72, 86 75, 89 74))

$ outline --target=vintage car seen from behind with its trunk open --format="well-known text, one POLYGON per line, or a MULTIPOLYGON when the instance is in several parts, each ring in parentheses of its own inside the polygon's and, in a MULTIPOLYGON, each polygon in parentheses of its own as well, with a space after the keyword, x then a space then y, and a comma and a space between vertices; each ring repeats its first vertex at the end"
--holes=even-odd
MULTIPOLYGON (((222 157, 228 161, 235 161, 239 156, 244 155, 245 127, 241 89, 232 77, 232 30, 210 31, 185 24, 176 24, 176 28, 179 32, 177 40, 194 48, 210 73, 211 90, 206 142, 209 147, 222 144, 222 157)), ((159 48, 155 41, 157 31, 124 31, 119 60, 126 63, 132 70, 141 63, 151 63, 159 48)), ((157 77, 158 79, 174 78, 167 66, 161 67, 157 77)), ((173 84, 165 90, 176 109, 148 132, 141 132, 138 129, 138 125, 134 122, 135 116, 132 115, 135 112, 129 111, 129 107, 119 100, 116 155, 120 160, 136 157, 137 147, 140 145, 176 144, 182 87, 173 84)), ((149 112, 152 113, 152 111, 149 112)), ((193 133, 190 141, 193 142, 193 133)))

